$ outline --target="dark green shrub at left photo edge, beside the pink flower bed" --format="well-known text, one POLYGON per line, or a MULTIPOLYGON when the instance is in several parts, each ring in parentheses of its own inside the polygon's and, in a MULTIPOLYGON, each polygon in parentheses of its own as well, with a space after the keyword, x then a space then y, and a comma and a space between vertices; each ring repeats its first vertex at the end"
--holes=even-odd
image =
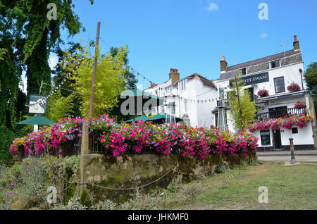
POLYGON ((14 140, 14 132, 6 127, 0 127, 0 163, 12 161, 10 145, 14 140))

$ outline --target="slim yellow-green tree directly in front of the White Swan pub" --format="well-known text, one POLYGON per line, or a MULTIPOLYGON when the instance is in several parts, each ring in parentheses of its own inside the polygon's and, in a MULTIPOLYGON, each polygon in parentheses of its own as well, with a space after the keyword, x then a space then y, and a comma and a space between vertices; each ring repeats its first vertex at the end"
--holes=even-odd
POLYGON ((244 84, 242 83, 241 73, 237 74, 237 84, 232 81, 231 92, 228 93, 228 103, 230 107, 230 116, 232 123, 235 125, 235 130, 246 131, 247 125, 252 123, 256 114, 255 102, 251 101, 250 93, 247 89, 242 89, 244 84), (237 99, 237 89, 240 95, 240 106, 242 110, 242 119, 239 111, 239 103, 237 99))

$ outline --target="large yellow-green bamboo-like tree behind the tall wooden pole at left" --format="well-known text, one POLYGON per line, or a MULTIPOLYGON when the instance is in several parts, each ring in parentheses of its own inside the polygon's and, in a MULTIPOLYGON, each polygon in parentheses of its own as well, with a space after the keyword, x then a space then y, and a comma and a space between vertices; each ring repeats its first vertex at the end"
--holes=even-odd
MULTIPOLYGON (((108 113, 118 103, 118 95, 125 89, 126 72, 125 55, 128 46, 120 48, 116 56, 99 54, 97 51, 96 82, 94 85, 94 109, 92 116, 108 113)), ((80 110, 85 118, 89 114, 90 92, 92 89, 92 73, 94 66, 94 55, 92 46, 87 44, 80 51, 80 55, 67 54, 64 57, 64 73, 71 73, 70 79, 75 81, 73 87, 82 99, 80 110), (73 70, 77 66, 76 70, 73 70)))

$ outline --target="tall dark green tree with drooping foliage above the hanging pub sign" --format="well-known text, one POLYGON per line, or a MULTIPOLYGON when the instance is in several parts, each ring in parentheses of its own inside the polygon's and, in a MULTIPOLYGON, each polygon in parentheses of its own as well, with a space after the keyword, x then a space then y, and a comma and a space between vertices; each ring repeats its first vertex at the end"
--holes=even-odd
MULTIPOLYGON (((89 0, 93 4, 93 0, 89 0)), ((22 51, 27 66, 27 94, 39 92, 42 80, 51 83, 49 54, 61 42, 61 28, 66 27, 70 36, 82 28, 78 16, 73 12, 72 0, 1 0, 0 12, 12 23, 15 48, 22 51), (56 20, 46 15, 48 4, 56 4, 56 20), (20 42, 23 45, 19 44, 20 42)), ((47 93, 45 86, 43 92, 47 93)))

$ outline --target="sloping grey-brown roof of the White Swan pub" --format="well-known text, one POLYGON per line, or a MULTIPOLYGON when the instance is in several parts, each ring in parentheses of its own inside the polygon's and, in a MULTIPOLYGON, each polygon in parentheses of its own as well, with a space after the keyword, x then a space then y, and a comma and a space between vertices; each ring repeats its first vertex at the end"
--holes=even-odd
POLYGON ((240 63, 240 64, 237 64, 234 66, 228 66, 227 69, 225 70, 225 73, 220 73, 220 80, 225 80, 225 79, 234 77, 237 74, 238 69, 256 66, 256 65, 259 65, 261 63, 268 63, 269 61, 275 61, 275 60, 278 60, 280 58, 293 56, 295 54, 301 54, 301 53, 302 53, 302 51, 300 49, 299 50, 292 49, 290 51, 285 51, 285 53, 283 51, 283 52, 278 53, 278 54, 273 54, 271 56, 266 56, 263 58, 255 59, 253 61, 247 61, 247 62, 240 63))

